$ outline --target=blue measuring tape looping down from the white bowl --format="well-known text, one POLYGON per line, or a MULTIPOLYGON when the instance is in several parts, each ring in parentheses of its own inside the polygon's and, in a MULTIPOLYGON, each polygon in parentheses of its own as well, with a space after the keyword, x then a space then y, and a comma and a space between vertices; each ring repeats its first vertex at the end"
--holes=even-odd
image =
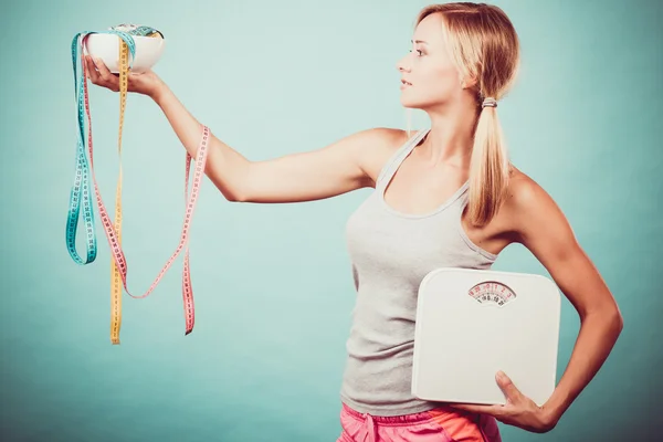
POLYGON ((86 265, 95 261, 97 255, 97 241, 95 233, 94 211, 92 207, 92 192, 90 186, 90 161, 87 158, 87 149, 85 141, 85 98, 84 98, 84 76, 83 66, 78 71, 78 64, 82 61, 83 39, 88 34, 108 33, 119 36, 128 46, 130 59, 129 70, 133 66, 136 57, 136 43, 131 35, 149 35, 159 33, 164 34, 150 27, 136 27, 120 24, 106 31, 85 31, 74 35, 72 41, 72 63, 74 70, 74 95, 78 106, 78 145, 76 149, 75 175, 74 183, 70 193, 70 204, 66 219, 66 249, 70 256, 76 264, 86 265), (126 30, 126 32, 125 32, 126 30), (83 203, 83 222, 85 224, 86 235, 86 257, 83 260, 76 250, 76 233, 78 229, 78 219, 81 218, 81 203, 83 203))

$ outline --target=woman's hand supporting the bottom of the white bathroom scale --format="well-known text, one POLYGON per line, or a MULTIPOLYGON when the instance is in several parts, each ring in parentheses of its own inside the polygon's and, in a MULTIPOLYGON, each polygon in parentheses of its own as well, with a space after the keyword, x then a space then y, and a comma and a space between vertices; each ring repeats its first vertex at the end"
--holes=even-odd
POLYGON ((523 394, 506 375, 498 372, 496 380, 506 396, 506 404, 476 406, 448 403, 449 407, 475 413, 491 414, 499 422, 519 427, 523 430, 534 433, 546 433, 555 428, 557 422, 550 413, 544 407, 538 407, 532 399, 523 394))

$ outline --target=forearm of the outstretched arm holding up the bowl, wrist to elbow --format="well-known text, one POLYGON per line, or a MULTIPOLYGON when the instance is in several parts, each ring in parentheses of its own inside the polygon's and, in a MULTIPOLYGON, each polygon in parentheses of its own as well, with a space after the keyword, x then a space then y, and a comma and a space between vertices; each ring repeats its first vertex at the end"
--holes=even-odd
MULTIPOLYGON (((151 94, 172 126, 180 143, 196 158, 201 137, 201 124, 187 110, 166 84, 151 94)), ((240 152, 210 134, 206 175, 230 201, 241 199, 244 179, 251 164, 240 152)))

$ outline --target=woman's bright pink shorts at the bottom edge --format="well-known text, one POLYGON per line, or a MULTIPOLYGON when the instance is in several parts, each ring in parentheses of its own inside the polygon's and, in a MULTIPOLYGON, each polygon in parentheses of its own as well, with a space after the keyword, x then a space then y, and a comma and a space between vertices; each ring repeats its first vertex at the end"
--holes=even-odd
POLYGON ((495 418, 451 408, 376 417, 344 403, 340 425, 336 442, 502 442, 495 418))

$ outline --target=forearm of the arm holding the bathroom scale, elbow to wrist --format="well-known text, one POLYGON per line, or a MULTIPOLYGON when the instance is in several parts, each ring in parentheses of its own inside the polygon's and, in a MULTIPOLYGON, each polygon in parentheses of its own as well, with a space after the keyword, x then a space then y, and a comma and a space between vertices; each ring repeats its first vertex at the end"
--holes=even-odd
POLYGON ((569 364, 550 399, 544 406, 548 418, 557 422, 582 389, 599 371, 622 329, 619 312, 588 314, 569 364))

